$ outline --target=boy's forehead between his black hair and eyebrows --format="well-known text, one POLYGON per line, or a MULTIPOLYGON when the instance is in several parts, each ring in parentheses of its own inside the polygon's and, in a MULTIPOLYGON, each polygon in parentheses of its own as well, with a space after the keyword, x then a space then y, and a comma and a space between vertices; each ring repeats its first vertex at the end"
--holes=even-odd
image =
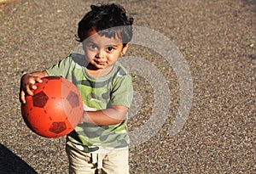
POLYGON ((91 30, 88 32, 88 37, 84 40, 84 42, 94 42, 97 44, 122 44, 122 39, 119 36, 108 37, 104 35, 100 35, 96 30, 91 30))

